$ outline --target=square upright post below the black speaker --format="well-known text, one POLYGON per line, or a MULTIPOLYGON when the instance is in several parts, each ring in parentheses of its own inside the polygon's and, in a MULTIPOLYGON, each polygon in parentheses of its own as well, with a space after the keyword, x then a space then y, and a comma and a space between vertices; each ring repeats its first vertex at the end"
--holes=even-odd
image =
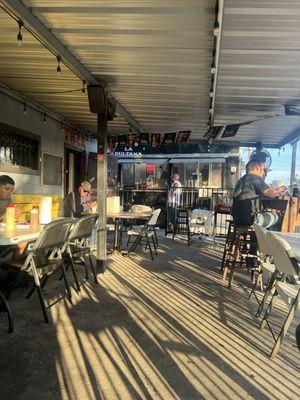
POLYGON ((97 114, 97 201, 98 201, 98 227, 97 227, 97 272, 106 270, 106 197, 107 197, 107 115, 97 114))

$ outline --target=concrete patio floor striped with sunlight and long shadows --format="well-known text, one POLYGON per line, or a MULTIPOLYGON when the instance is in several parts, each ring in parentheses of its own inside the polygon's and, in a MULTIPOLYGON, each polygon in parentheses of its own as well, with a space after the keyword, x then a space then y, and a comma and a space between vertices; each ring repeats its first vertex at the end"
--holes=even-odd
MULTIPOLYGON (((36 294, 25 300, 17 289, 13 334, 0 314, 0 399, 299 399, 295 324, 270 360, 248 275, 228 290, 220 261, 213 244, 161 238, 154 262, 142 250, 115 254, 99 285, 80 274, 72 305, 53 276, 48 325, 36 294)), ((282 317, 275 312, 277 327, 282 317)))

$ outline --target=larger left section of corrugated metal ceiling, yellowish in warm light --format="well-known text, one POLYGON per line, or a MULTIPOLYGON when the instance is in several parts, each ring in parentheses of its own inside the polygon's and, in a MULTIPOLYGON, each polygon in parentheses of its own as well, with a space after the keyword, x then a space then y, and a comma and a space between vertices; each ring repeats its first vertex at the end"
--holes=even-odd
MULTIPOLYGON (((92 75, 108 84, 146 131, 191 129, 192 139, 202 138, 209 110, 213 0, 23 3, 92 75)), ((1 82, 21 92, 81 87, 66 69, 56 78, 55 57, 35 39, 26 35, 18 48, 16 23, 3 12, 0 18, 1 82)), ((80 125, 95 125, 80 92, 30 97, 80 125)), ((128 124, 114 121, 110 131, 126 133, 128 124)))

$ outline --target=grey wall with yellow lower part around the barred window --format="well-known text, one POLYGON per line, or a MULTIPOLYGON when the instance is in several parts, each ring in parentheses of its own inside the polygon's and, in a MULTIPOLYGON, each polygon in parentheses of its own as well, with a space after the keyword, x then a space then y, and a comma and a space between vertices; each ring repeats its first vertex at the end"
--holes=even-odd
MULTIPOLYGON (((0 122, 24 133, 31 133, 40 137, 40 150, 64 157, 64 133, 61 123, 49 116, 44 123, 44 113, 26 107, 24 114, 23 103, 3 93, 0 93, 0 122)), ((51 171, 49 171, 51 173, 51 171)), ((38 175, 28 173, 23 168, 5 167, 0 164, 0 174, 11 176, 16 182, 15 193, 22 194, 57 194, 62 196, 63 186, 41 185, 40 171, 38 175)))

